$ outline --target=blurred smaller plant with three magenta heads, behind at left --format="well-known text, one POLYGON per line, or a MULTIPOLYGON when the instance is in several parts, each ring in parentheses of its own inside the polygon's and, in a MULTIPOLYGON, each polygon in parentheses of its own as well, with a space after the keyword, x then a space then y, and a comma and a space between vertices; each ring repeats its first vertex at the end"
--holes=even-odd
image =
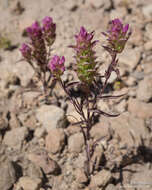
POLYGON ((56 38, 56 24, 51 17, 42 20, 42 26, 35 21, 26 29, 29 37, 28 43, 23 43, 20 51, 24 59, 32 66, 39 80, 42 82, 46 95, 51 77, 47 77, 48 63, 51 56, 51 47, 56 38))

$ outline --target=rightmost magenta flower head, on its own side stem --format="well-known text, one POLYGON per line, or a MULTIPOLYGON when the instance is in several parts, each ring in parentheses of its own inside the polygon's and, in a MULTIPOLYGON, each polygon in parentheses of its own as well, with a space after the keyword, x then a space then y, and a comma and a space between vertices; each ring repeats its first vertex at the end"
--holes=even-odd
POLYGON ((109 52, 121 53, 125 47, 127 40, 129 39, 131 32, 128 32, 129 24, 123 26, 122 22, 116 18, 109 23, 109 29, 107 33, 102 33, 108 37, 109 52))

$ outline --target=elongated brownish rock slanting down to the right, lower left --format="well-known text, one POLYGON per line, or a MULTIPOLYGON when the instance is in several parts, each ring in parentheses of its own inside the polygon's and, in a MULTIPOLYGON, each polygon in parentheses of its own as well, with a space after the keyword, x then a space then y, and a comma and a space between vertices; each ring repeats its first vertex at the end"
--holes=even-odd
POLYGON ((31 153, 27 157, 36 166, 41 167, 45 174, 57 175, 60 173, 60 167, 57 162, 52 160, 47 154, 31 153))

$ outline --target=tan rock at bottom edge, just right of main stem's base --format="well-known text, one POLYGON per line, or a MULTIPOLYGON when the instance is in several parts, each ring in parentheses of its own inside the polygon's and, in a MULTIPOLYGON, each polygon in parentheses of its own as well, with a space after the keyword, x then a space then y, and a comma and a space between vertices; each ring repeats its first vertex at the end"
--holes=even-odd
POLYGON ((102 171, 91 177, 90 187, 105 187, 110 182, 111 178, 111 172, 103 169, 102 171))

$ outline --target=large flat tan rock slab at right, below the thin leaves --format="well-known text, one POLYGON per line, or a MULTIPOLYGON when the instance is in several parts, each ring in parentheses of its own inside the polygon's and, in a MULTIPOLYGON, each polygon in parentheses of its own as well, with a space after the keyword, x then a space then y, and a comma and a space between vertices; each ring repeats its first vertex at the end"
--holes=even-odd
POLYGON ((141 143, 141 137, 146 139, 149 135, 144 121, 135 118, 128 112, 121 114, 117 119, 111 118, 110 123, 115 134, 120 137, 124 144, 130 147, 135 146, 135 143, 139 146, 141 143), (133 138, 135 138, 135 142, 133 138))

